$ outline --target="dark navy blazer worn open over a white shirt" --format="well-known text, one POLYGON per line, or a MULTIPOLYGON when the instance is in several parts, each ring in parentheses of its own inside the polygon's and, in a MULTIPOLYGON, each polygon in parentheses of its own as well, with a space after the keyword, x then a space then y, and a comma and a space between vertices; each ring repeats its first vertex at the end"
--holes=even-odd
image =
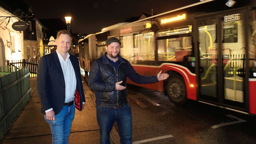
MULTIPOLYGON (((85 102, 82 76, 78 59, 69 57, 76 74, 76 89, 80 94, 80 105, 85 102)), ((65 80, 57 52, 40 58, 36 76, 37 93, 41 101, 41 113, 53 108, 55 115, 59 114, 65 103, 65 80)))

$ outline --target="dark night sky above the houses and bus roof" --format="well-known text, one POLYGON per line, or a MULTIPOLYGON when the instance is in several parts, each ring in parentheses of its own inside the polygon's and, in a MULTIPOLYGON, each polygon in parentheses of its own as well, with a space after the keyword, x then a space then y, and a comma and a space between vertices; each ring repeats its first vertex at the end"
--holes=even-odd
POLYGON ((60 18, 70 13, 71 30, 78 34, 100 32, 143 12, 160 14, 200 0, 22 0, 34 9, 37 19, 60 18))

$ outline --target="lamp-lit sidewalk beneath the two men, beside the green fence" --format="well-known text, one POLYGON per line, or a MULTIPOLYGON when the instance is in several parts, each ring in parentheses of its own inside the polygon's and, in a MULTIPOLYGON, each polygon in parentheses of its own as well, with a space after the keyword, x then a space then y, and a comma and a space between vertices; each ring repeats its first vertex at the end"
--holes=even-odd
MULTIPOLYGON (((96 119, 95 96, 84 82, 85 108, 76 109, 69 136, 69 144, 99 144, 100 131, 96 119)), ((51 144, 52 134, 49 124, 40 112, 41 102, 36 91, 36 78, 30 78, 31 99, 25 106, 12 128, 4 136, 2 144, 51 144)), ((119 144, 119 136, 113 128, 110 133, 113 144, 119 144)))

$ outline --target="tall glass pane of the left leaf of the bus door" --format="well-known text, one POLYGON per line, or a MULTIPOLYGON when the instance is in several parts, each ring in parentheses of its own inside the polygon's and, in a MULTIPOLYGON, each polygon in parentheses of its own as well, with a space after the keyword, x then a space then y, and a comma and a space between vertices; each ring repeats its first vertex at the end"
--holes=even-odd
POLYGON ((217 97, 217 25, 206 25, 198 27, 198 42, 200 62, 199 66, 204 69, 200 76, 200 93, 204 96, 217 97))

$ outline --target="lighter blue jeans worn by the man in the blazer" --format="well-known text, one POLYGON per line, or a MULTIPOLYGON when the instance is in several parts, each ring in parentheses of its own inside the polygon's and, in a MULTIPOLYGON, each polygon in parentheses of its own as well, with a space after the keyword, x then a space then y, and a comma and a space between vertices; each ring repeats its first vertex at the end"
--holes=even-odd
POLYGON ((68 144, 68 137, 70 134, 71 124, 75 118, 75 105, 63 106, 60 113, 55 115, 54 121, 45 121, 50 125, 52 132, 52 144, 68 144))

